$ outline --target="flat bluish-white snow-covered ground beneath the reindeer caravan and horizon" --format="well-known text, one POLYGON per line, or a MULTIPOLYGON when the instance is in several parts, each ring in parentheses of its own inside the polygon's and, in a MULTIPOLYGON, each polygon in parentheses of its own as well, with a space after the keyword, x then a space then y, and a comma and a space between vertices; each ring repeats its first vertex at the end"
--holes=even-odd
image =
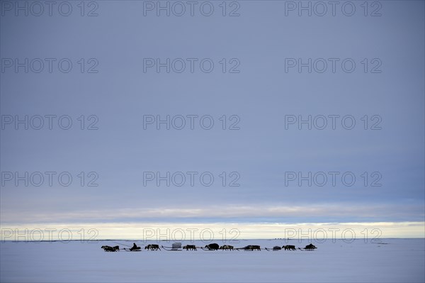
MULTIPOLYGON (((105 253, 132 240, 1 243, 1 282, 425 282, 424 239, 312 242, 309 251, 146 251, 105 253)), ((145 247, 149 241, 135 241, 145 247)), ((223 243, 216 241, 219 245, 223 243)), ((191 244, 188 241, 184 244, 191 244)), ((196 241, 197 246, 205 246, 196 241)), ((296 245, 298 240, 240 240, 236 247, 296 245)), ((162 241, 159 245, 171 246, 162 241)))

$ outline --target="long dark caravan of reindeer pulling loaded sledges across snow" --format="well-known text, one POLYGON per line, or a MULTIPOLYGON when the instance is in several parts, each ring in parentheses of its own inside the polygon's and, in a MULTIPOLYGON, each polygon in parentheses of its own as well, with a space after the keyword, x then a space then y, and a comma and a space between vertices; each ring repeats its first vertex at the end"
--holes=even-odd
MULTIPOLYGON (((120 247, 118 245, 115 245, 115 247, 110 247, 108 245, 103 245, 101 248, 103 248, 103 250, 105 252, 118 252, 120 251, 120 247)), ((168 249, 164 246, 162 246, 162 248, 164 248, 164 250, 198 250, 198 248, 200 248, 201 250, 261 250, 261 247, 259 245, 246 245, 243 248, 234 248, 234 246, 232 245, 222 245, 220 247, 220 245, 218 245, 217 243, 212 243, 209 245, 205 245, 205 247, 196 247, 196 245, 185 245, 183 246, 183 248, 181 248, 181 243, 174 243, 173 247, 171 249, 168 249)), ((274 246, 273 248, 264 248, 265 250, 268 251, 278 251, 278 250, 297 250, 297 248, 295 248, 295 245, 283 245, 282 247, 280 247, 279 245, 274 246)), ((306 245, 305 248, 298 248, 298 250, 315 250, 317 249, 315 245, 310 244, 310 245, 306 245)), ((128 250, 128 251, 141 251, 142 248, 137 247, 137 245, 134 243, 132 248, 127 249, 127 248, 123 248, 123 250, 128 250)), ((161 248, 159 248, 159 245, 156 244, 149 244, 147 246, 145 246, 145 250, 161 250, 161 248)))

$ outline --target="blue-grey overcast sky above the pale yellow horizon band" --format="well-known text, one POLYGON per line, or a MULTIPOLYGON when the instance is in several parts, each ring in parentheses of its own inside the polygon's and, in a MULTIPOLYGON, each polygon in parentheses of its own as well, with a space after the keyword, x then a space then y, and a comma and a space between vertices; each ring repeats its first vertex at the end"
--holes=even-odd
POLYGON ((47 10, 41 16, 23 11, 16 16, 15 6, 1 6, 2 226, 414 222, 421 223, 423 236, 423 1, 369 2, 368 16, 363 1, 353 1, 353 16, 345 16, 339 6, 335 16, 330 10, 324 16, 298 16, 297 10, 285 16, 288 1, 227 1, 226 16, 221 1, 208 2, 215 9, 212 16, 196 8, 194 16, 165 16, 164 11, 157 16, 155 10, 144 16, 148 1, 94 3, 85 7, 84 16, 74 1, 69 2, 70 16, 61 16, 57 7, 52 16, 47 10), (86 16, 91 9, 98 16, 86 16), (228 15, 233 9, 239 16, 228 15), (370 16, 375 9, 381 16, 370 16), (28 73, 24 67, 15 72, 7 64, 16 58, 34 65, 28 65, 28 73), (45 62, 40 73, 33 72, 35 58, 45 62), (55 60, 51 73, 45 58, 55 60), (57 67, 63 58, 72 62, 68 73, 57 67), (165 67, 144 72, 144 58, 183 58, 186 63, 196 58, 195 69, 190 72, 187 64, 181 73, 171 66, 169 73, 165 67), (212 72, 200 70, 205 58, 214 63, 212 72), (322 73, 314 68, 309 73, 307 67, 285 72, 285 58, 328 63, 337 58, 336 71, 328 65, 322 73), (341 69, 346 59, 356 63, 353 72, 341 69), (237 63, 239 72, 229 73, 237 63), (98 72, 89 73, 94 65, 98 72), (40 130, 22 125, 16 130, 14 120, 5 122, 16 115, 67 115, 72 127, 63 130, 54 120, 49 130, 44 118, 40 130), (162 124, 157 130, 152 124, 144 129, 147 115, 183 116, 186 127, 166 130, 162 124), (198 116, 193 130, 188 115, 198 116), (205 115, 214 121, 210 130, 197 123, 205 115), (289 115, 324 116, 328 126, 299 130, 295 123, 285 129, 289 115), (335 130, 329 115, 339 115, 335 130), (341 126, 343 116, 354 118, 352 130, 341 126), (378 119, 380 130, 371 130, 378 119), (95 121, 98 129, 87 130, 95 121), (239 130, 229 130, 235 121, 239 130), (26 187, 23 181, 5 180, 7 172, 57 174, 52 186, 45 179, 40 187, 26 187), (72 176, 68 187, 57 182, 60 172, 72 176), (167 187, 155 180, 144 186, 144 172, 198 174, 193 187, 187 178, 181 187, 167 187), (203 172, 215 178, 210 187, 197 179, 203 172), (309 187, 307 181, 300 186, 297 180, 285 185, 285 172, 324 172, 328 182, 323 187, 309 187), (328 172, 339 172, 335 186, 328 172), (356 177, 353 186, 341 181, 344 172, 356 177), (98 187, 88 187, 94 176, 98 187), (229 187, 236 177, 239 187, 229 187), (377 178, 382 185, 371 186, 377 178))

